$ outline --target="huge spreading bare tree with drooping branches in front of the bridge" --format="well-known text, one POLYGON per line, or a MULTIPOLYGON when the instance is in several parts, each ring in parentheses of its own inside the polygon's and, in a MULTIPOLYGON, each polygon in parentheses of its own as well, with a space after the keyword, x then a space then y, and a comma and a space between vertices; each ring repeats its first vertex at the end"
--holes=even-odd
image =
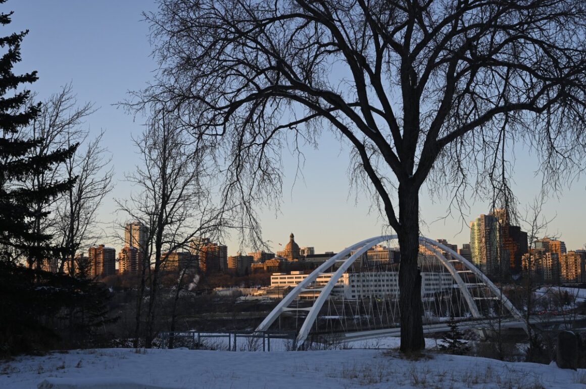
POLYGON ((295 150, 322 128, 350 144, 398 235, 403 352, 424 347, 428 176, 465 201, 486 187, 499 138, 532 144, 554 184, 584 157, 582 1, 161 0, 145 16, 161 67, 136 103, 163 102, 229 158, 224 198, 249 226, 272 198, 262 191, 280 191, 288 133, 295 150))

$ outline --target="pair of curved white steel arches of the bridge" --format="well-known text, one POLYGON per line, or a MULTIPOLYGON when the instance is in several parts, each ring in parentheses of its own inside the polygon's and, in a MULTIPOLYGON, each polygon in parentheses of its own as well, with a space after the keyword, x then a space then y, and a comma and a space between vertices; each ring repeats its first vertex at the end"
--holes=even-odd
MULTIPOLYGON (((272 323, 275 322, 275 320, 282 314, 282 312, 295 310, 308 311, 308 315, 305 317, 303 325, 301 326, 301 329, 299 330, 299 333, 297 335, 297 345, 302 345, 307 339, 307 336, 309 335, 309 330, 311 329, 311 326, 314 325, 315 320, 318 318, 320 309, 323 307, 323 304, 327 301, 334 286, 336 285, 336 283, 338 283, 340 277, 342 277, 342 274, 344 274, 345 271, 350 266, 352 266, 356 259, 362 257, 362 254, 366 253, 368 250, 370 250, 372 247, 379 244, 380 242, 384 242, 385 240, 391 239, 397 239, 397 235, 381 235, 371 237, 369 239, 364 239, 358 243, 355 243, 352 246, 346 247, 346 249, 343 249, 338 254, 322 263, 319 267, 315 268, 315 270, 312 271, 311 274, 305 277, 304 280, 297 284, 297 286, 293 288, 293 290, 291 290, 287 295, 285 295, 281 302, 279 302, 279 304, 277 304, 277 306, 274 309, 272 309, 270 314, 267 315, 263 322, 261 322, 260 325, 258 325, 256 331, 268 331, 272 323), (357 251, 350 257, 346 258, 346 256, 350 254, 353 250, 357 251), (308 285, 314 283, 314 281, 316 281, 319 276, 324 274, 326 269, 328 269, 329 267, 333 266, 333 264, 338 262, 342 262, 342 265, 338 268, 338 270, 336 270, 332 274, 332 277, 329 279, 326 285, 324 285, 321 288, 307 288, 308 285), (291 302, 294 301, 296 298, 298 298, 299 294, 301 294, 301 292, 304 291, 320 292, 318 298, 316 298, 316 300, 314 301, 314 305, 308 308, 288 308, 288 305, 291 304, 291 302)), ((449 247, 444 246, 441 243, 438 243, 435 240, 429 239, 427 237, 420 236, 419 242, 420 246, 424 246, 428 250, 430 250, 434 254, 434 256, 438 260, 440 260, 441 263, 444 264, 444 266, 447 268, 449 273, 456 281, 456 284, 462 292, 462 295, 464 295, 464 299, 468 304, 468 308, 470 309, 470 312, 474 318, 481 318, 482 316, 478 311, 478 307, 476 307, 474 298, 468 290, 466 283, 464 282, 464 280, 462 280, 462 277, 459 275, 458 271, 456 271, 454 265, 447 258, 445 258, 441 252, 438 252, 438 250, 435 247, 438 247, 441 250, 444 250, 445 252, 449 253, 452 258, 462 263, 468 271, 471 271, 476 277, 480 278, 482 280, 482 283, 489 288, 492 294, 499 297, 505 308, 507 308, 516 319, 524 323, 523 315, 520 314, 520 312, 517 310, 517 308, 515 308, 515 306, 513 306, 512 302, 510 302, 510 300, 500 292, 500 290, 495 286, 495 284, 493 284, 492 281, 490 281, 488 277, 486 277, 485 274, 478 270, 478 268, 476 268, 476 266, 474 266, 470 261, 462 257, 460 254, 456 253, 449 247)), ((524 327, 525 331, 527 331, 526 326, 524 327)))

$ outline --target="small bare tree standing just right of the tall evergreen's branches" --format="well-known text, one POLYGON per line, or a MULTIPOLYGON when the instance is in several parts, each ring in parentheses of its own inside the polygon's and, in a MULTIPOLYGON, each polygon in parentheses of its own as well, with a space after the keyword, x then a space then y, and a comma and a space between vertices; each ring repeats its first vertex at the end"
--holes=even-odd
POLYGON ((87 276, 88 264, 83 261, 83 249, 96 243, 98 221, 96 212, 104 197, 113 189, 113 167, 103 146, 104 133, 87 144, 87 132, 67 134, 67 142, 80 142, 77 152, 63 167, 65 177, 77 178, 75 185, 59 199, 56 207, 54 240, 62 247, 59 272, 65 269, 71 275, 87 276))

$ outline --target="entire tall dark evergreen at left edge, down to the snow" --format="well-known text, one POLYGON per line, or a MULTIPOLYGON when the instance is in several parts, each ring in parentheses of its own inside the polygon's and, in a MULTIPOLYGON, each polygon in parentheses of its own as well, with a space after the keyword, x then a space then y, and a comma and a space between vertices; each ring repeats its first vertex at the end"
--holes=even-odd
MULTIPOLYGON (((11 22, 11 15, 0 13, 0 26, 11 22)), ((0 358, 52 349, 57 342, 91 345, 98 341, 94 330, 115 320, 108 317, 111 293, 103 284, 41 269, 43 260, 61 249, 50 245, 52 236, 40 223, 51 199, 76 182, 71 175, 59 180, 54 178, 59 174, 45 173, 55 172, 78 144, 51 147, 48 137, 28 130, 38 125, 40 112, 25 88, 37 80, 36 71, 12 71, 27 33, 0 37, 0 358), (34 185, 27 186, 30 182, 34 185), (31 268, 18 266, 22 258, 31 268)))

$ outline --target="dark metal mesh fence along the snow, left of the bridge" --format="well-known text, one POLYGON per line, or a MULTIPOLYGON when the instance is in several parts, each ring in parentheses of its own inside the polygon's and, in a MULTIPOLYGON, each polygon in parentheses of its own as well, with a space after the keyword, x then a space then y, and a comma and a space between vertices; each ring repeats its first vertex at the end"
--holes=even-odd
POLYGON ((295 350, 295 332, 161 332, 161 348, 186 347, 192 350, 289 351, 295 350))

